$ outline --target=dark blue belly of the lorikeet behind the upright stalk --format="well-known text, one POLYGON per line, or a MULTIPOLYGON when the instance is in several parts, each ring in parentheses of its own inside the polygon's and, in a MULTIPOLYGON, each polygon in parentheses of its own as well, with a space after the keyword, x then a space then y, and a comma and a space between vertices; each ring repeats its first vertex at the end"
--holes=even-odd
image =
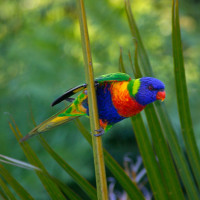
MULTIPOLYGON (((105 85, 97 86, 96 95, 97 95, 99 119, 107 121, 108 124, 115 124, 125 119, 125 117, 120 116, 115 107, 113 106, 109 89, 110 89, 110 84, 107 84, 106 86, 105 85)), ((82 105, 85 108, 87 108, 87 114, 89 115, 87 100, 82 102, 82 105)))

